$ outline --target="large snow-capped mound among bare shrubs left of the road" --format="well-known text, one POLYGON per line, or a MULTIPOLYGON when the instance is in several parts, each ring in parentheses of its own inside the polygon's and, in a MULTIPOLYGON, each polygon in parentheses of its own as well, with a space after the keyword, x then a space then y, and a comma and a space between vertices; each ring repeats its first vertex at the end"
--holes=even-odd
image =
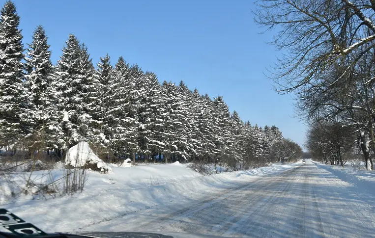
POLYGON ((65 157, 65 165, 73 168, 86 167, 100 173, 112 171, 112 168, 99 159, 85 141, 78 143, 68 150, 65 157))

